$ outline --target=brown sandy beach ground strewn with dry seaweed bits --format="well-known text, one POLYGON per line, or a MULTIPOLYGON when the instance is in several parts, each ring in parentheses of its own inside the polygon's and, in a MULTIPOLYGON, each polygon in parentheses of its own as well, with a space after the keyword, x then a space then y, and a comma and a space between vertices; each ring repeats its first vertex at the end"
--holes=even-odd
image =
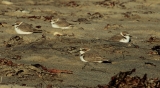
POLYGON ((160 77, 160 57, 151 50, 159 44, 160 38, 158 0, 0 1, 1 59, 23 64, 0 64, 2 85, 96 87, 108 84, 118 72, 133 68, 136 69, 133 75, 142 77, 147 73, 149 78, 160 77), (68 30, 54 29, 50 17, 65 18, 74 27, 68 30), (12 26, 17 20, 34 27, 41 26, 39 29, 45 31, 31 35, 17 34, 12 26), (136 46, 107 40, 121 31, 128 31, 132 35, 131 43, 136 46), (55 36, 55 32, 65 36, 55 36), (150 37, 157 38, 157 41, 147 42, 150 37), (81 62, 78 51, 82 47, 97 50, 113 63, 81 62), (34 68, 32 64, 73 71, 73 74, 41 75, 37 72, 42 69, 34 68), (20 70, 23 72, 17 73, 20 70))

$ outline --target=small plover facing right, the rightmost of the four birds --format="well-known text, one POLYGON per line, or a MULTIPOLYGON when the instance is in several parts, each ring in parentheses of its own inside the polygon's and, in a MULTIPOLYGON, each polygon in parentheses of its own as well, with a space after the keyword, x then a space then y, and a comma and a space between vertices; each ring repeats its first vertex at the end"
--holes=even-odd
POLYGON ((123 32, 120 32, 120 34, 114 35, 109 40, 129 43, 131 41, 131 36, 128 32, 123 31, 123 32))

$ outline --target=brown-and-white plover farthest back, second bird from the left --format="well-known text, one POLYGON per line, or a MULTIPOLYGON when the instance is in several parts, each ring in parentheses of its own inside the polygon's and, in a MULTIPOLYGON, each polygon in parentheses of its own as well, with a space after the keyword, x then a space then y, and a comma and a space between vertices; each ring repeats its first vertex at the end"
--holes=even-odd
POLYGON ((60 29, 70 29, 73 27, 72 24, 68 23, 65 19, 52 19, 51 20, 51 25, 53 28, 60 28, 60 29))

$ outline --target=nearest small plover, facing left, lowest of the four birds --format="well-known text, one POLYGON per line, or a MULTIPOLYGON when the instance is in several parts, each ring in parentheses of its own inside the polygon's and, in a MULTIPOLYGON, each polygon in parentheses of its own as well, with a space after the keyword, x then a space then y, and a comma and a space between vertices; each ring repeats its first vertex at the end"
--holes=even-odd
POLYGON ((91 51, 89 48, 80 48, 80 60, 83 62, 111 63, 111 61, 104 60, 97 52, 91 51))

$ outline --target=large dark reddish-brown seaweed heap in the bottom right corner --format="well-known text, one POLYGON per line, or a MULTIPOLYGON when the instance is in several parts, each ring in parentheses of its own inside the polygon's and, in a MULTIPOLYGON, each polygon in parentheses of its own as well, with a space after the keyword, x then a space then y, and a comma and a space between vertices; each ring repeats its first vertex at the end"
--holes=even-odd
POLYGON ((98 88, 159 88, 160 80, 158 78, 148 79, 147 74, 141 78, 139 76, 130 76, 136 69, 131 71, 119 72, 111 77, 108 85, 98 85, 98 88))

